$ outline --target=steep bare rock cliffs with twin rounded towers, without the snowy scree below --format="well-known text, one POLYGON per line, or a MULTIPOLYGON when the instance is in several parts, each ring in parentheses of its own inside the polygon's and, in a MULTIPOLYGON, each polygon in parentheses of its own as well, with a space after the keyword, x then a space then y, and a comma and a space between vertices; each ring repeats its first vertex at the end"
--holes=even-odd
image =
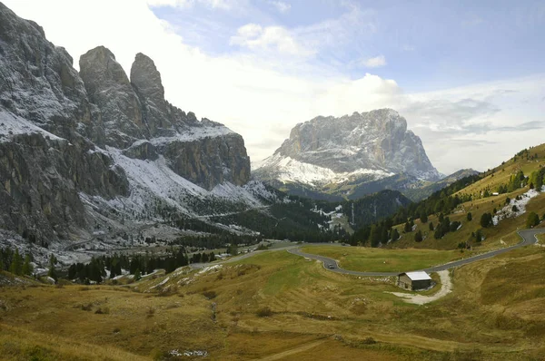
POLYGON ((36 239, 89 229, 90 198, 134 194, 131 159, 205 190, 250 175, 243 138, 166 102, 150 58, 137 54, 129 79, 100 46, 78 73, 38 24, 0 3, 0 229, 36 239))

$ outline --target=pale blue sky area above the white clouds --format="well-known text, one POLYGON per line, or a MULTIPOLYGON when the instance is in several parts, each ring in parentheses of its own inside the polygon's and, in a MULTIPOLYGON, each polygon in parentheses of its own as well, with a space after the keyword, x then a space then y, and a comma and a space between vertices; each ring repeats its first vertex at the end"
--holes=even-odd
POLYGON ((185 43, 216 56, 252 53, 230 42, 245 24, 285 28, 302 46, 314 44, 316 53, 306 56, 305 63, 331 68, 352 79, 370 71, 362 61, 382 55, 386 64, 373 67, 372 73, 395 79, 407 91, 543 72, 543 1, 254 0, 211 4, 154 6, 153 11, 173 24, 185 43), (321 25, 327 22, 333 23, 337 34, 320 39, 321 25))

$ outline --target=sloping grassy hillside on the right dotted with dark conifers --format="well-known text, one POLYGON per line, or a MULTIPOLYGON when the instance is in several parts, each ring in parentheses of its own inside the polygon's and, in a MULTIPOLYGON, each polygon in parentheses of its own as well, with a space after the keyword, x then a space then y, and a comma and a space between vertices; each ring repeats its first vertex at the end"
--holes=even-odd
MULTIPOLYGON (((457 249, 461 243, 464 243, 464 246, 471 249, 483 251, 516 243, 518 242, 516 230, 526 227, 526 219, 530 211, 536 212, 540 218, 545 216, 545 192, 541 192, 540 195, 530 200, 526 205, 525 213, 518 217, 500 220, 497 226, 483 228, 480 222, 481 216, 484 213, 490 213, 492 216, 500 215, 500 210, 505 207, 507 200, 515 200, 530 190, 530 184, 526 184, 522 188, 493 195, 497 190, 505 191, 505 187, 515 174, 523 171, 524 175, 528 177, 534 171, 543 172, 544 170, 545 144, 542 144, 528 151, 521 151, 510 161, 505 161, 493 170, 487 171, 481 179, 477 178, 476 181, 472 179, 465 187, 459 188, 459 184, 453 184, 455 187, 450 196, 449 193, 445 193, 449 189, 441 190, 441 192, 433 196, 434 200, 432 202, 425 200, 411 204, 406 209, 398 210, 393 220, 402 223, 393 226, 393 229, 397 229, 401 237, 397 241, 391 241, 384 247, 390 249, 457 249), (452 201, 455 199, 460 204, 452 201), (449 209, 450 211, 444 212, 443 216, 449 217, 451 222, 461 222, 461 228, 446 233, 440 239, 436 239, 434 231, 430 230, 430 223, 433 224, 434 229, 437 228, 440 223, 441 211, 439 210, 448 208, 445 205, 450 202, 457 205, 449 209), (421 221, 421 214, 424 211, 430 214, 426 222, 421 221), (495 213, 495 211, 498 213, 495 213), (468 213, 470 212, 472 220, 468 220, 468 213), (414 229, 406 230, 405 220, 411 217, 412 214, 415 215, 413 220, 414 229), (422 234, 422 241, 415 240, 415 234, 419 231, 422 234), (477 232, 481 232, 484 238, 481 242, 474 237, 477 232)), ((461 180, 461 182, 463 181, 465 180, 461 180)), ((530 183, 530 181, 527 182, 530 183)), ((509 206, 508 209, 511 210, 511 207, 509 206)), ((395 221, 392 223, 395 224, 395 221)), ((361 230, 356 231, 356 236, 360 236, 360 234, 364 233, 361 230)), ((367 242, 366 245, 370 243, 367 242)))

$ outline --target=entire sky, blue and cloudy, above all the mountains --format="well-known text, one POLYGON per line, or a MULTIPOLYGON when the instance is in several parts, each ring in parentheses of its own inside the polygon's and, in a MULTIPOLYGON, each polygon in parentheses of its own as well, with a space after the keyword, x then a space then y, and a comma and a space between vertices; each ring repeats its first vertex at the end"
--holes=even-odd
POLYGON ((3 0, 78 67, 154 59, 165 96, 243 135, 257 163, 318 115, 389 107, 442 173, 545 142, 545 2, 3 0))

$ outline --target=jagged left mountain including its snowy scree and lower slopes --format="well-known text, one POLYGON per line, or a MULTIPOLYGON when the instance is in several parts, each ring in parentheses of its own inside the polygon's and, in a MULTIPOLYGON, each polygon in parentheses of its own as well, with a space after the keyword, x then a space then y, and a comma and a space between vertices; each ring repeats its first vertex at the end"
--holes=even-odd
MULTIPOLYGON (((3 244, 20 247, 23 238, 61 257, 78 245, 147 246, 144 239, 340 236, 316 211, 339 202, 249 181, 242 136, 166 101, 145 54, 129 75, 104 46, 81 56, 79 72, 73 62, 38 24, 0 3, 3 244)), ((397 207, 392 201, 378 216, 397 207)))

